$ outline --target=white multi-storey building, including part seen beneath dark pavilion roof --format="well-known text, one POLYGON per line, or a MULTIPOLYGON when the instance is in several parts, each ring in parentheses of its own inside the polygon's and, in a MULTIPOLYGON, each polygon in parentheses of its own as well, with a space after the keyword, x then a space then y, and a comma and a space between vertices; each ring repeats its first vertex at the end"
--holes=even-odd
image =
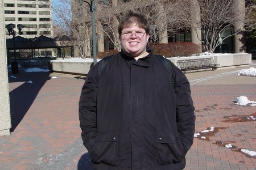
MULTIPOLYGON (((14 24, 15 36, 19 35, 30 40, 42 35, 53 38, 51 0, 3 0, 3 12, 5 28, 8 24, 14 24), (22 24, 23 27, 20 33, 18 24, 22 24)), ((5 35, 7 40, 13 38, 7 28, 5 35)), ((14 56, 13 53, 14 50, 7 49, 8 57, 14 56)), ((18 58, 52 56, 53 49, 24 49, 18 50, 17 55, 18 58)))

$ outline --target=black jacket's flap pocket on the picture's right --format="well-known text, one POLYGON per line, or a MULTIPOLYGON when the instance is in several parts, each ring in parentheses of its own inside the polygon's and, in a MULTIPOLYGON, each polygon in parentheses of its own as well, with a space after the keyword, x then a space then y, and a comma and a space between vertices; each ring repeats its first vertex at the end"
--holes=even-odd
POLYGON ((171 132, 157 131, 156 143, 159 164, 180 163, 187 153, 179 136, 171 132))

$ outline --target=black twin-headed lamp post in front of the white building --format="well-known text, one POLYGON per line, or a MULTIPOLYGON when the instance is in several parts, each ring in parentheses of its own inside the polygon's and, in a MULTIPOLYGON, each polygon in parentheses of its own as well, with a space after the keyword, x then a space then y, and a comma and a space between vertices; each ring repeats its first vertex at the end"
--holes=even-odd
MULTIPOLYGON (((6 25, 6 29, 9 32, 9 36, 13 35, 14 61, 11 62, 11 72, 13 74, 17 74, 17 73, 19 73, 19 64, 18 64, 18 61, 16 61, 16 47, 15 47, 15 35, 16 35, 16 32, 15 32, 14 28, 15 28, 15 25, 12 24, 12 23, 6 25)), ((20 35, 20 33, 22 31, 22 28, 23 28, 23 25, 22 24, 18 24, 17 28, 19 30, 19 35, 20 35)))

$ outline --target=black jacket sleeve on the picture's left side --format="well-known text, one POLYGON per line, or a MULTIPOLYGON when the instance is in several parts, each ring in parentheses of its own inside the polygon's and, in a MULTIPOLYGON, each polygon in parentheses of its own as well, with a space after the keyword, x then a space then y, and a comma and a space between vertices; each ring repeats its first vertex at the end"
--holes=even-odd
POLYGON ((90 69, 86 76, 84 86, 82 87, 79 100, 79 120, 82 130, 82 141, 89 150, 96 139, 97 133, 97 65, 90 69))

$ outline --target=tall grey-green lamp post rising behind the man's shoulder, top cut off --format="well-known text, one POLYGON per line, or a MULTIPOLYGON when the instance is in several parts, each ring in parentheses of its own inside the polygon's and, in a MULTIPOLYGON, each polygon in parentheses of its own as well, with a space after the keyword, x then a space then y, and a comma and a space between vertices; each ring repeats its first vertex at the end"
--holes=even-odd
MULTIPOLYGON (((90 6, 90 13, 92 17, 92 39, 93 39, 93 65, 95 66, 97 63, 97 49, 96 49, 96 24, 95 24, 95 11, 96 11, 96 6, 95 6, 95 1, 90 0, 90 3, 87 1, 82 1, 79 0, 79 4, 82 5, 82 2, 88 3, 90 6)), ((104 3, 106 3, 105 0, 103 0, 104 3)))

